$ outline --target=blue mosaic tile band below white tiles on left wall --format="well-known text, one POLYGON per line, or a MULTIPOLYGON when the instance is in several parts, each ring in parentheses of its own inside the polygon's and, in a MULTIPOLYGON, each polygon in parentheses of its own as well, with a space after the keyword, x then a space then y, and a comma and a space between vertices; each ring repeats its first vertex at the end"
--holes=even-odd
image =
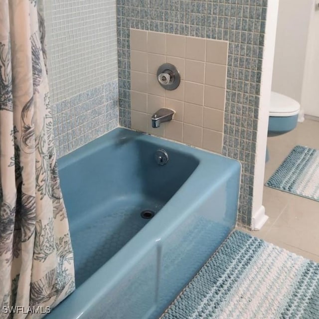
POLYGON ((57 157, 89 143, 119 125, 118 81, 52 105, 57 157))

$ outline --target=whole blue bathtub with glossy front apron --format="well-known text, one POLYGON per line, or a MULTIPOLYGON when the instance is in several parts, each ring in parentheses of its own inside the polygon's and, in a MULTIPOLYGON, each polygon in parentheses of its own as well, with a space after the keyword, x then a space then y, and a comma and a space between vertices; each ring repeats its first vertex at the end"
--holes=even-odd
POLYGON ((240 163, 192 147, 118 128, 59 172, 77 288, 48 319, 159 318, 236 223, 240 163))

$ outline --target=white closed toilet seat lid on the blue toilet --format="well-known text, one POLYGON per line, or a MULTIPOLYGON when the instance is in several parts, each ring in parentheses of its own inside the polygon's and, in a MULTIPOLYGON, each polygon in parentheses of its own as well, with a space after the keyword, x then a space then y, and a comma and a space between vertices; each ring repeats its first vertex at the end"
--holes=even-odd
POLYGON ((299 111, 300 104, 296 100, 277 92, 271 92, 269 116, 294 116, 299 111))

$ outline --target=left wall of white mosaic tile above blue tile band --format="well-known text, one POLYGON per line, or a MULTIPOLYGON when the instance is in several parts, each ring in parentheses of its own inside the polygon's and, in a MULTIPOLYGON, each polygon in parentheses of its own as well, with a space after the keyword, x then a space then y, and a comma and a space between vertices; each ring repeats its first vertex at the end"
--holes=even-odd
POLYGON ((118 126, 116 1, 48 0, 44 15, 61 157, 118 126))

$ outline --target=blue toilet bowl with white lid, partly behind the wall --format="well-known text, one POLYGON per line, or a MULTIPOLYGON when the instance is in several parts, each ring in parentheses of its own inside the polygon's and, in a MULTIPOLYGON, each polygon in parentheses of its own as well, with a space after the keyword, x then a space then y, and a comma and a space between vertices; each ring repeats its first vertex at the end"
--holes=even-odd
POLYGON ((297 126, 300 104, 277 92, 271 92, 268 136, 278 136, 297 126))

